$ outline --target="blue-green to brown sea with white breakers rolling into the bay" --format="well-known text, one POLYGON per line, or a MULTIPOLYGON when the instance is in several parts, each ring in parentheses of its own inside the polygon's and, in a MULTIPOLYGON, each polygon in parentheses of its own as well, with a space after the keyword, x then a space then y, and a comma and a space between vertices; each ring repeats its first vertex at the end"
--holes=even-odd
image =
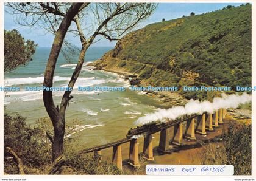
MULTIPOLYGON (((78 149, 101 145, 126 137, 134 121, 157 110, 157 101, 140 91, 130 91, 129 82, 116 73, 91 70, 87 64, 101 58, 113 47, 90 47, 85 56, 82 72, 71 95, 74 98, 66 109, 66 122, 74 126, 68 135, 74 138, 78 149), (78 87, 125 87, 125 91, 78 91, 78 87)), ((29 125, 38 118, 48 117, 43 104, 43 91, 26 91, 25 87, 43 86, 44 69, 50 48, 38 47, 33 60, 5 73, 5 87, 20 87, 20 91, 5 92, 4 105, 9 114, 18 112, 29 125)), ((66 87, 76 66, 78 55, 67 62, 59 56, 54 74, 53 87, 66 87)), ((60 104, 63 91, 54 91, 55 105, 60 104)))

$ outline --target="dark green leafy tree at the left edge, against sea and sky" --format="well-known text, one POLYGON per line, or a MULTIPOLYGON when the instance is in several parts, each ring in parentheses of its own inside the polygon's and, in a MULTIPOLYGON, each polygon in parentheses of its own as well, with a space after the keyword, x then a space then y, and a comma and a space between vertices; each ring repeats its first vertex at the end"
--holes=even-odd
POLYGON ((4 72, 31 61, 36 47, 34 41, 25 41, 18 30, 4 30, 4 72))

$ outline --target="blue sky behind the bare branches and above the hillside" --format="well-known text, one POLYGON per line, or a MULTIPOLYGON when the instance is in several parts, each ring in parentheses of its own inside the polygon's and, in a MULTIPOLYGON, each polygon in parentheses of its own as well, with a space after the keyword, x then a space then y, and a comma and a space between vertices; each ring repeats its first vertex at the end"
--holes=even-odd
MULTIPOLYGON (((140 29, 147 24, 152 24, 154 22, 160 22, 163 18, 165 20, 180 18, 183 15, 189 16, 191 12, 198 14, 212 12, 213 10, 222 9, 227 5, 239 6, 243 3, 160 3, 158 4, 155 12, 145 21, 138 25, 137 29, 140 29)), ((25 39, 34 40, 39 47, 51 47, 54 35, 46 32, 38 24, 34 27, 25 27, 16 24, 13 21, 13 16, 7 12, 4 12, 4 29, 5 30, 18 30, 25 39)), ((80 40, 78 37, 73 37, 73 35, 67 35, 69 39, 77 46, 80 46, 80 40)), ((115 41, 108 41, 107 39, 102 39, 98 43, 92 46, 103 46, 103 47, 113 47, 115 46, 115 41)))

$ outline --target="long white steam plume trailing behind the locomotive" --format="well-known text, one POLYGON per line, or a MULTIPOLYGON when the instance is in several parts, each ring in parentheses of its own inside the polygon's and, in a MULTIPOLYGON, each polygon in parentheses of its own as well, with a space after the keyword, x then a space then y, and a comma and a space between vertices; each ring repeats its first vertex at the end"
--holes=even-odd
POLYGON ((185 114, 202 114, 203 112, 208 112, 213 114, 220 108, 237 108, 240 104, 250 102, 252 100, 251 95, 245 92, 242 95, 232 94, 226 95, 222 94, 222 97, 215 97, 213 101, 202 101, 191 99, 185 106, 176 106, 170 109, 159 109, 154 113, 147 114, 143 117, 138 118, 134 122, 134 125, 143 125, 145 123, 150 123, 152 121, 166 121, 173 120, 185 114))

